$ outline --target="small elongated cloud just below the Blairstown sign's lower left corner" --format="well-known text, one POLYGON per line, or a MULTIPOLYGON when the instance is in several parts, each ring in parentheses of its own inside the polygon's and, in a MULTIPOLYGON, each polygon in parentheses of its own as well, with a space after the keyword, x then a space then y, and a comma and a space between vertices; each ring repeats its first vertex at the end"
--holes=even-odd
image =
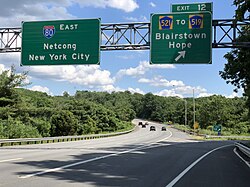
POLYGON ((144 75, 150 69, 173 69, 175 68, 172 64, 166 65, 150 65, 148 61, 141 61, 139 66, 129 69, 121 69, 118 71, 116 78, 121 78, 123 76, 138 77, 144 75))

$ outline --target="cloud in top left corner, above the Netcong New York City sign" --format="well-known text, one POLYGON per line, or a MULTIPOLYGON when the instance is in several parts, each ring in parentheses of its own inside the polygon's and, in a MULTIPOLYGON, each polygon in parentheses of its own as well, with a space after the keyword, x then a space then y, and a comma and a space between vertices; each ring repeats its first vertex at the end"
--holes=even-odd
MULTIPOLYGON (((69 1, 68 1, 69 2, 69 1)), ((20 26, 22 21, 72 19, 67 1, 6 1, 1 2, 0 22, 4 26, 20 26), (63 3, 64 2, 64 3, 63 3)))

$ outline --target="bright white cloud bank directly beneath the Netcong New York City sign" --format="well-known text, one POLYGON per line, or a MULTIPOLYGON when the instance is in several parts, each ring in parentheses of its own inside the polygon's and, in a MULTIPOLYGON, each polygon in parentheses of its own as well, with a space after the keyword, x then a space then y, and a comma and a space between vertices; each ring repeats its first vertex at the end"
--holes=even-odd
POLYGON ((47 79, 54 81, 66 81, 78 85, 87 86, 89 88, 97 88, 99 86, 114 84, 111 73, 108 70, 100 69, 98 65, 84 66, 23 66, 20 67, 20 53, 17 54, 1 54, 1 69, 9 69, 12 64, 15 65, 17 73, 28 71, 29 80, 33 78, 47 79))

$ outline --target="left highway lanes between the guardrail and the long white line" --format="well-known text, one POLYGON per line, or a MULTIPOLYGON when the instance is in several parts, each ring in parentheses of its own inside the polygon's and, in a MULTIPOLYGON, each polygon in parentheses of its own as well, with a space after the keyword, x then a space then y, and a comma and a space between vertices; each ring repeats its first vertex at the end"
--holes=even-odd
POLYGON ((59 168, 82 160, 89 160, 106 156, 107 154, 115 154, 117 152, 134 149, 164 139, 169 135, 170 133, 168 131, 161 132, 157 129, 156 132, 150 132, 148 127, 145 129, 137 127, 137 129, 130 134, 111 138, 2 147, 0 148, 1 160, 10 159, 13 158, 13 156, 16 156, 16 158, 21 157, 23 160, 20 162, 13 161, 11 163, 1 164, 0 169, 4 168, 4 172, 0 175, 0 181, 4 181, 2 184, 8 184, 8 186, 10 186, 8 181, 13 183, 17 181, 20 175, 23 176, 30 173, 59 168), (79 155, 79 159, 72 159, 79 157, 79 155), (13 174, 13 171, 16 172, 13 174))

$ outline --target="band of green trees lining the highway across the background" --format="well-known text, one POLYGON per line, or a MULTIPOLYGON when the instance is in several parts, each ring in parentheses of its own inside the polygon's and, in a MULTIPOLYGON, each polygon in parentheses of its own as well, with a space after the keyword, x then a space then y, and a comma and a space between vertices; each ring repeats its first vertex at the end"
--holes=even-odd
POLYGON ((0 138, 49 137, 114 132, 132 127, 142 118, 161 123, 196 122, 201 129, 215 124, 232 134, 250 133, 246 97, 220 95, 195 99, 162 97, 147 93, 76 91, 70 96, 50 96, 17 86, 25 85, 27 73, 14 67, 0 74, 0 138), (185 102, 187 103, 185 107, 185 102))

